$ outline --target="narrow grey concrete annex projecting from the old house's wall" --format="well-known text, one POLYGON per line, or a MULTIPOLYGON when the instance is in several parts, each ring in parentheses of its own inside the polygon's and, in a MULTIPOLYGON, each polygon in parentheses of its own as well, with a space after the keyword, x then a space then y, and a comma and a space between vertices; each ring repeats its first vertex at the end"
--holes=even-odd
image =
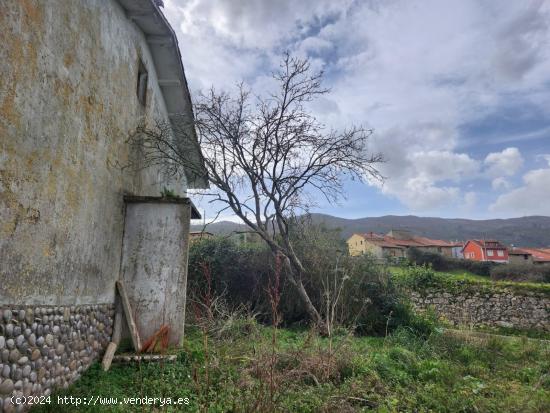
POLYGON ((143 340, 162 324, 170 344, 183 339, 190 212, 185 200, 127 204, 122 279, 143 340))

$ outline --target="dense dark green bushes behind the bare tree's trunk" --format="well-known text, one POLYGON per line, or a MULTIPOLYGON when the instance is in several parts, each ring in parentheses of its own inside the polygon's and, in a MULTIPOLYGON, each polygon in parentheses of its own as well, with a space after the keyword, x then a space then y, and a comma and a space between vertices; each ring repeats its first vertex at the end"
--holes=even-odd
MULTIPOLYGON (((407 306, 387 269, 368 255, 350 257, 334 231, 322 227, 301 228, 295 235, 295 250, 306 268, 305 286, 313 301, 326 317, 326 287, 342 283, 334 311, 337 325, 356 328, 361 334, 385 335, 400 325, 410 325, 420 334, 429 323, 416 317, 407 306)), ((224 297, 228 311, 242 306, 258 314, 258 320, 271 323, 268 280, 273 274, 273 258, 266 247, 236 245, 215 237, 193 243, 189 255, 188 291, 191 296, 204 296, 208 282, 203 275, 207 263, 211 273, 211 294, 224 297)), ((295 289, 283 274, 279 311, 283 325, 307 324, 309 317, 295 289)), ((192 313, 192 311, 191 311, 192 313)))

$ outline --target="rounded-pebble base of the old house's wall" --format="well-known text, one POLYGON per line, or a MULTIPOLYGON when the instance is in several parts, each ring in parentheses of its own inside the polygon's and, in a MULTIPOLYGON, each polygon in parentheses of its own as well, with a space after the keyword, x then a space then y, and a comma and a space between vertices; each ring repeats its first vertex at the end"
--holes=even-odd
POLYGON ((0 306, 0 412, 12 396, 67 388, 109 344, 114 305, 0 306))

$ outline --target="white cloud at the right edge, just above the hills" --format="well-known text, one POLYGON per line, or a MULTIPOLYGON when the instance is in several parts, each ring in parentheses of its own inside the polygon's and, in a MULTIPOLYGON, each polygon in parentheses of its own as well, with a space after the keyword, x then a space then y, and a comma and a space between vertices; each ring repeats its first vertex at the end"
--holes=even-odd
POLYGON ((500 195, 490 210, 505 215, 550 215, 550 169, 535 169, 523 176, 524 185, 500 195))

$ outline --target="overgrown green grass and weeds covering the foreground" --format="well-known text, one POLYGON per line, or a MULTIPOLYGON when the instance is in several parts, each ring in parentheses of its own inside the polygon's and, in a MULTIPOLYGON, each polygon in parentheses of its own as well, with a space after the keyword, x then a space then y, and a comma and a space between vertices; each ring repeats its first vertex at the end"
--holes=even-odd
MULTIPOLYGON (((550 347, 512 338, 421 339, 408 329, 386 338, 332 340, 309 330, 276 331, 253 320, 210 334, 191 329, 172 364, 94 365, 60 395, 189 397, 208 412, 546 412, 550 347), (272 368, 270 368, 272 367, 272 368), (270 387, 271 384, 271 387, 270 387)), ((152 411, 143 406, 80 406, 83 412, 152 411)), ((36 412, 73 412, 55 403, 36 412)))

